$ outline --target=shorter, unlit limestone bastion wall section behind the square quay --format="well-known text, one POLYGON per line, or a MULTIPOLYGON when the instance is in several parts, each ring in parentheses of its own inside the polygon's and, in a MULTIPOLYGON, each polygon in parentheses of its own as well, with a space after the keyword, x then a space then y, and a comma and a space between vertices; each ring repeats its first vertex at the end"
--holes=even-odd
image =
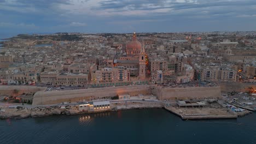
POLYGON ((165 87, 160 89, 157 96, 159 100, 218 98, 220 87, 165 87))

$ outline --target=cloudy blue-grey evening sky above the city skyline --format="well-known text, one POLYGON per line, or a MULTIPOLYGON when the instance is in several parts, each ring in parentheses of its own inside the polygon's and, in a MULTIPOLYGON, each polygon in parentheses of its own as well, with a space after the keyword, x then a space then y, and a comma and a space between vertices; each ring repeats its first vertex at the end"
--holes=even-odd
POLYGON ((0 33, 255 31, 255 0, 0 0, 0 33))

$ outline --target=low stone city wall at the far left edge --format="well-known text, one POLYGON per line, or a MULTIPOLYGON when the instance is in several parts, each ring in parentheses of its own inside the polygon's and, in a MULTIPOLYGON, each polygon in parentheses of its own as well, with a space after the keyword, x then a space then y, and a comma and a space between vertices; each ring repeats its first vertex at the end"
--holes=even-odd
POLYGON ((36 93, 38 91, 44 91, 45 89, 46 87, 36 86, 0 86, 0 95, 18 96, 23 93, 36 93), (15 89, 17 91, 15 91, 15 89))

